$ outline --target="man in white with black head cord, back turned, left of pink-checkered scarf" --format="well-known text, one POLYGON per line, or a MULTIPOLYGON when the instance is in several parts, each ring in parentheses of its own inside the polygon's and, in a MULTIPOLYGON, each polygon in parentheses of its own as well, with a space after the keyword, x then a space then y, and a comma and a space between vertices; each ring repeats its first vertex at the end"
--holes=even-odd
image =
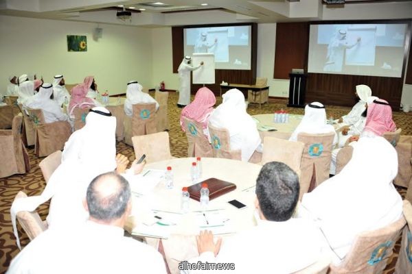
POLYGON ((42 110, 46 123, 56 121, 68 121, 69 116, 62 112, 60 105, 50 97, 53 94, 53 86, 49 83, 43 83, 36 95, 30 97, 25 102, 27 108, 42 110))

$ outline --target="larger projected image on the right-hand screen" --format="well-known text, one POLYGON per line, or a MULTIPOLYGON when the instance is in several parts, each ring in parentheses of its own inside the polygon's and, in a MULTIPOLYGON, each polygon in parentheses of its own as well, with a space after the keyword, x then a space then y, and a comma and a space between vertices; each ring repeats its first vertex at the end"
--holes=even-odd
POLYGON ((308 71, 400 77, 406 24, 310 25, 308 71))

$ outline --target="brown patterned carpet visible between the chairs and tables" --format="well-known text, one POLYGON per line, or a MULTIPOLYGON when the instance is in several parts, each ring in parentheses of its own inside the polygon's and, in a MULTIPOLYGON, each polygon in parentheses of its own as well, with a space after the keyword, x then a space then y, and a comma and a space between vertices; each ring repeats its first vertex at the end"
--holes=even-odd
MULTIPOLYGON (((187 140, 185 134, 181 131, 179 126, 179 117, 181 109, 176 108, 178 94, 170 92, 168 116, 170 121, 170 149, 172 155, 175 157, 186 157, 187 155, 187 140)), ((221 99, 218 98, 216 105, 221 103, 221 99)), ((292 114, 304 114, 304 110, 301 108, 286 108, 286 100, 273 100, 270 104, 262 105, 260 109, 258 105, 249 105, 248 112, 251 115, 273 113, 275 110, 288 110, 292 114)), ((326 106, 326 112, 328 117, 333 116, 335 119, 339 118, 343 114, 347 113, 349 108, 342 108, 336 106, 326 106)), ((412 134, 412 114, 404 114, 403 112, 394 112, 394 121, 398 127, 402 128, 402 134, 412 134)), ((127 155, 129 160, 134 160, 135 155, 133 153, 133 147, 129 147, 124 142, 117 143, 117 152, 127 155)), ((7 178, 0 179, 0 273, 5 273, 10 264, 10 261, 19 252, 16 246, 16 240, 12 232, 12 224, 10 221, 10 206, 19 190, 23 190, 28 196, 39 195, 44 187, 45 182, 38 163, 42 158, 36 158, 34 155, 34 149, 29 149, 30 153, 30 165, 32 169, 25 175, 13 175, 7 178)), ((406 190, 397 188, 402 197, 404 197, 406 190)), ((38 212, 42 219, 47 216, 49 205, 43 204, 38 212)), ((21 238, 22 246, 24 247, 29 242, 27 235, 23 232, 23 229, 19 227, 19 235, 21 238)), ((394 254, 385 270, 385 273, 393 273, 396 264, 396 258, 398 257, 398 251, 400 249, 400 242, 396 244, 396 254, 394 254)))

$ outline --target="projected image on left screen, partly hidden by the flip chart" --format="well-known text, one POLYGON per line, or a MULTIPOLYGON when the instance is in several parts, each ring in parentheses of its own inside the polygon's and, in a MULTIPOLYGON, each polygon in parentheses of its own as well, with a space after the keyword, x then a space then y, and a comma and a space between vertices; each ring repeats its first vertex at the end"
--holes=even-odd
POLYGON ((214 53, 216 69, 250 69, 251 27, 196 27, 184 31, 185 55, 214 53))

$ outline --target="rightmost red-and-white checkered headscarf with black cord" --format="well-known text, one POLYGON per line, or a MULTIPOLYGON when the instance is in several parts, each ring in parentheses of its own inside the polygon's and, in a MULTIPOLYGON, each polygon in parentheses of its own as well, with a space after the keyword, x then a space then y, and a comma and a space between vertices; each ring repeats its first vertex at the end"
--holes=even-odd
POLYGON ((376 99, 367 108, 365 129, 382 136, 385 132, 396 130, 395 122, 392 120, 392 109, 389 103, 383 99, 376 99))

